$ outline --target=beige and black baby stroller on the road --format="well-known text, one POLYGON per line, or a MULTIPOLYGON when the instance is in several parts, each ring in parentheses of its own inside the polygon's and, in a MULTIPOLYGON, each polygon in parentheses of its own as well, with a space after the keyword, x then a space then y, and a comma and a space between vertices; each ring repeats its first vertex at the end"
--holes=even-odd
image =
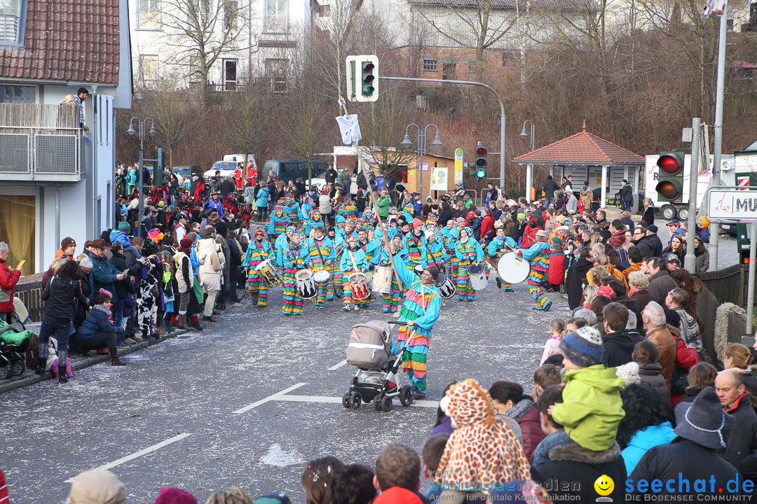
POLYGON ((350 389, 341 397, 341 405, 357 410, 362 403, 371 403, 376 411, 390 411, 392 399, 399 396, 404 407, 413 404, 413 388, 410 385, 397 387, 397 369, 402 363, 401 348, 391 341, 391 326, 405 325, 391 320, 370 320, 359 323, 350 330, 350 344, 347 346, 347 363, 357 367, 357 373, 350 389))

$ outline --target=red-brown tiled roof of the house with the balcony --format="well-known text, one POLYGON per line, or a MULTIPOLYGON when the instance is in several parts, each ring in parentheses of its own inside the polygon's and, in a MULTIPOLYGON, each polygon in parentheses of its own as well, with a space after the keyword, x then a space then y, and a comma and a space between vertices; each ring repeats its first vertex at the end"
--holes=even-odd
POLYGON ((23 48, 0 49, 0 78, 117 84, 119 0, 29 0, 23 48))

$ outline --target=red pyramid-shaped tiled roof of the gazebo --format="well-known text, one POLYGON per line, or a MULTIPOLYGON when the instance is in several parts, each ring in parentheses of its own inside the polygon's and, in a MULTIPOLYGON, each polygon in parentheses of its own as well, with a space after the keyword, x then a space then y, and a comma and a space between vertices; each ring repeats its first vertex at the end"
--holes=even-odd
POLYGON ((553 144, 540 147, 533 152, 513 159, 515 162, 532 162, 534 164, 560 164, 560 163, 618 163, 638 164, 644 163, 644 158, 632 153, 623 147, 592 135, 584 130, 571 135, 568 138, 556 141, 553 144))

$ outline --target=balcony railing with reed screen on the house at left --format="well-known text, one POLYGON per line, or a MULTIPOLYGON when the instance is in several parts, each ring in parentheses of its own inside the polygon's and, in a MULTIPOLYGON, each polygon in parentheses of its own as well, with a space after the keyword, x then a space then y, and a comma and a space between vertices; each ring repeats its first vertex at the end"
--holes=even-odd
POLYGON ((84 145, 75 104, 0 104, 0 181, 78 182, 84 145))

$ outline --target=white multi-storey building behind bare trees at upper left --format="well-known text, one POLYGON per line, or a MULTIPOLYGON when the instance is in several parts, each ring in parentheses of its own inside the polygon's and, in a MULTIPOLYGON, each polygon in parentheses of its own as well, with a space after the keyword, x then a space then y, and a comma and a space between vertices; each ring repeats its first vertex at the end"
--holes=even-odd
POLYGON ((201 85, 204 69, 211 90, 265 76, 285 91, 312 16, 310 0, 129 0, 129 19, 138 83, 201 85))

